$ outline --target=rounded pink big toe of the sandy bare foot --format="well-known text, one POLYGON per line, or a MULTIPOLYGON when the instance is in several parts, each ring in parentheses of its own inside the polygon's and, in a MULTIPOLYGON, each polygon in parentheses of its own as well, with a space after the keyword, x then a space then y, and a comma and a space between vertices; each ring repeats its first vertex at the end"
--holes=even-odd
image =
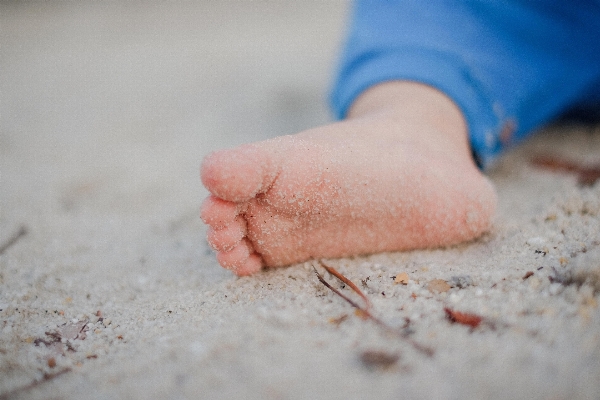
POLYGON ((247 201, 272 184, 277 175, 272 160, 273 155, 257 145, 214 152, 202 162, 202 183, 221 199, 247 201))

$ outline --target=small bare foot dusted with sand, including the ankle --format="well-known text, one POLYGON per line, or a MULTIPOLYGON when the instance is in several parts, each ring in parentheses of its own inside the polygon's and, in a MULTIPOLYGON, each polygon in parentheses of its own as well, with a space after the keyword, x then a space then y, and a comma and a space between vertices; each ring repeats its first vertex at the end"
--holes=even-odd
POLYGON ((410 82, 369 89, 345 121, 212 153, 201 176, 208 242, 237 275, 456 244, 496 207, 458 108, 410 82))

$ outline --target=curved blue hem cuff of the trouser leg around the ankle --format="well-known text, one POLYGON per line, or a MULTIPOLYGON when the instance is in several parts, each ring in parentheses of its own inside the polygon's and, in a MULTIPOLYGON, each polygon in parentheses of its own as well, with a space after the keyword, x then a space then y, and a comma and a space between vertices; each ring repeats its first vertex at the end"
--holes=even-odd
POLYGON ((501 118, 483 84, 459 57, 423 48, 373 51, 343 65, 331 105, 337 118, 344 118, 354 100, 369 87, 392 80, 421 82, 445 93, 462 111, 475 159, 488 167, 502 150, 501 118))

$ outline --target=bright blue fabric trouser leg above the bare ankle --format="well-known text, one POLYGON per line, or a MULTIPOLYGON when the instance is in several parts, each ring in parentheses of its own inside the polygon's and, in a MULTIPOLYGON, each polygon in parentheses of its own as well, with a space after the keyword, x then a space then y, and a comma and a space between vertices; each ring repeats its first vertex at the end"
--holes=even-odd
POLYGON ((359 0, 331 95, 343 118, 377 83, 434 86, 487 166, 540 125, 600 105, 600 1, 359 0))

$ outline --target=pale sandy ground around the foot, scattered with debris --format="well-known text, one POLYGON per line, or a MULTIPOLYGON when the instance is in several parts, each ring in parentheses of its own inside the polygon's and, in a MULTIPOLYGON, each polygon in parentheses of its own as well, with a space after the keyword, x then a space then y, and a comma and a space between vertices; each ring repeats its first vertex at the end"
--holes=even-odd
POLYGON ((600 398, 600 184, 529 163, 600 163, 597 127, 507 154, 480 240, 330 261, 404 336, 310 263, 218 266, 200 160, 330 118, 346 12, 0 4, 0 399, 600 398))

